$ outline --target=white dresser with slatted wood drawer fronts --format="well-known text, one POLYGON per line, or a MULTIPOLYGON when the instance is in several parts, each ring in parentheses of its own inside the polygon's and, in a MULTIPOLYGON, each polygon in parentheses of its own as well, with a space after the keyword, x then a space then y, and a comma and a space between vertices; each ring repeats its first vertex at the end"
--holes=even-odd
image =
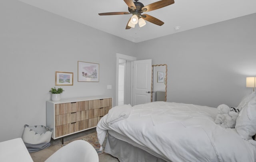
POLYGON ((112 97, 104 96, 46 101, 46 125, 53 139, 61 138, 96 127, 111 108, 112 97))

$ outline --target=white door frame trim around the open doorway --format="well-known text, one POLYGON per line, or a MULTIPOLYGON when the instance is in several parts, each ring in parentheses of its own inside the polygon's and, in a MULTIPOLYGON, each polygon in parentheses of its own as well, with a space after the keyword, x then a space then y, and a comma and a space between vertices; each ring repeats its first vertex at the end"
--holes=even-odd
MULTIPOLYGON (((119 69, 119 59, 125 59, 127 61, 136 61, 136 57, 132 57, 129 55, 123 55, 120 53, 116 53, 116 105, 118 105, 118 69, 119 69)), ((132 63, 133 65, 133 63, 132 63)), ((131 71, 131 81, 133 79, 133 71, 131 71)), ((131 82, 131 84, 133 84, 131 82)), ((125 86, 124 86, 125 87, 125 86)), ((125 91, 126 89, 124 89, 125 91)), ((131 95, 132 95, 132 85, 131 85, 131 95)), ((131 98, 131 103, 132 103, 132 98, 131 98)))

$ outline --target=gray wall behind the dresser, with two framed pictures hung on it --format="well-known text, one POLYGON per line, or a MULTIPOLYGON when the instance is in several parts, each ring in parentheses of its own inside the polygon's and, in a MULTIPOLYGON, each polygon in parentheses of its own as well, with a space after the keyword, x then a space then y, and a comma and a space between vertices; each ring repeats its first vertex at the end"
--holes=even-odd
POLYGON ((60 86, 62 98, 106 95, 115 103, 116 53, 133 56, 135 45, 22 2, 1 0, 0 142, 21 137, 24 124, 46 125, 55 71, 74 73, 73 86, 60 86), (100 82, 77 82, 77 61, 99 63, 100 82))

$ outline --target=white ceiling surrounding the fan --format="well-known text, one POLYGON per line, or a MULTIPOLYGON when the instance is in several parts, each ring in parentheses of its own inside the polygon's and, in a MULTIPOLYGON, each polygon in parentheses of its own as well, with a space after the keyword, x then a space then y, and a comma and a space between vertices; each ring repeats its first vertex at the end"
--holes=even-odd
MULTIPOLYGON (((140 42, 200 26, 256 13, 256 0, 174 0, 175 3, 146 12, 164 22, 126 30, 129 15, 99 16, 102 12, 128 12, 123 0, 20 0, 32 6, 91 26, 132 42, 140 42), (176 31, 174 27, 180 26, 176 31)), ((144 6, 158 0, 139 0, 144 6)))

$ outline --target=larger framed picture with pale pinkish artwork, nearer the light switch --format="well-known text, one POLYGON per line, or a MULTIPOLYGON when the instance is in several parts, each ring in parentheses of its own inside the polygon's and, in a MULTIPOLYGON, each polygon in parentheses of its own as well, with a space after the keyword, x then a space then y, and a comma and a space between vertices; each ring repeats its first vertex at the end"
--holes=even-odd
POLYGON ((100 64, 78 61, 78 81, 99 81, 100 64))

